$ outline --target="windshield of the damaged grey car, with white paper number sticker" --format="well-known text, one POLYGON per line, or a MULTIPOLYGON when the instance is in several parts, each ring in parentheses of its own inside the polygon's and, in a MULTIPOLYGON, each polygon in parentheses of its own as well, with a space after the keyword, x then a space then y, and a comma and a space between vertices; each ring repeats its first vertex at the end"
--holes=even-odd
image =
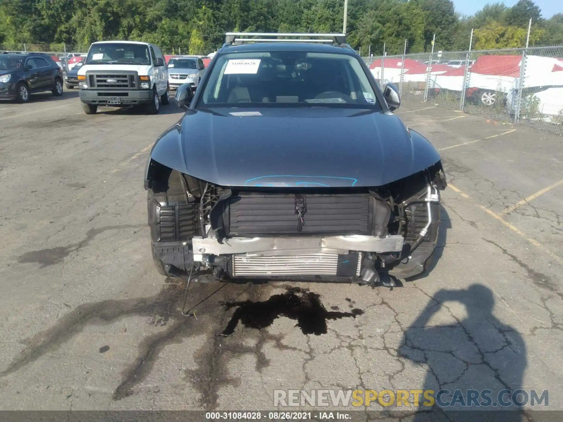
POLYGON ((301 51, 221 55, 199 106, 378 106, 356 57, 301 51))

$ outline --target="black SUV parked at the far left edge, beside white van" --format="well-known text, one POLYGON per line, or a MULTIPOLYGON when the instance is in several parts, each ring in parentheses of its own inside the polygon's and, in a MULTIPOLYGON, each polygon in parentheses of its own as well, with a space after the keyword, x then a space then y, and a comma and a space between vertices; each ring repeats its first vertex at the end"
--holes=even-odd
POLYGON ((0 100, 28 102, 33 92, 62 95, 62 70, 44 53, 0 53, 0 100))

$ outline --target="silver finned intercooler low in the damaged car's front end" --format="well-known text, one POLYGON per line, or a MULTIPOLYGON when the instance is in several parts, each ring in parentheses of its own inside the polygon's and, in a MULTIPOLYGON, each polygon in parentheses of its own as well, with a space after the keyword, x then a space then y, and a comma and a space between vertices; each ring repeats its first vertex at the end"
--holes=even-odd
POLYGON ((231 274, 253 276, 359 276, 361 253, 306 254, 274 257, 233 255, 231 274))

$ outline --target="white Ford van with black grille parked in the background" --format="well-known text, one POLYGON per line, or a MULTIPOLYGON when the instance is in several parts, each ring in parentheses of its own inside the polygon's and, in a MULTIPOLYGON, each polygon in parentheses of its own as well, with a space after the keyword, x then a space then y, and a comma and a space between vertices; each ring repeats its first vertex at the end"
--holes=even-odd
POLYGON ((90 46, 78 71, 82 109, 142 105, 157 114, 168 104, 168 69, 160 48, 136 41, 100 41, 90 46))

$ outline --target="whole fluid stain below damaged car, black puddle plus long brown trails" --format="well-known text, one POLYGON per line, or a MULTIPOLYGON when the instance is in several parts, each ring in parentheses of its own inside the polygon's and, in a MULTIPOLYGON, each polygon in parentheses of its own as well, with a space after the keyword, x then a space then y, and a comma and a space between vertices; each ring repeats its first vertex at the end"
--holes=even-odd
MULTIPOLYGON (((270 363, 262 351, 266 340, 273 341, 274 347, 280 350, 288 348, 281 344, 281 338, 264 331, 258 331, 260 339, 252 347, 240 341, 244 340, 242 336, 233 336, 227 340, 224 336, 216 335, 229 318, 225 312, 227 309, 236 307, 227 328, 222 331, 227 334, 229 331, 234 332, 239 321, 245 326, 261 329, 269 326, 276 318, 286 316, 297 320, 297 326, 303 333, 319 335, 327 332, 328 320, 355 318, 363 313, 361 309, 352 309, 351 312, 327 311, 318 294, 291 286, 285 286, 285 293, 272 295, 261 302, 260 298, 267 297, 273 287, 271 284, 198 283, 190 290, 192 303, 200 303, 197 319, 181 315, 185 283, 178 282, 177 279, 167 279, 162 290, 153 297, 83 303, 60 317, 49 329, 24 339, 25 348, 0 372, 0 378, 14 374, 47 354, 55 353, 88 325, 114 324, 123 317, 137 316, 144 318, 147 324, 162 329, 146 335, 140 341, 137 357, 129 362, 116 383, 114 401, 135 393, 136 387, 150 374, 166 345, 180 344, 186 338, 205 334, 207 339, 194 355, 195 367, 186 369, 185 380, 202 394, 201 405, 207 410, 213 410, 217 406, 218 389, 222 385, 236 387, 241 382, 228 375, 227 365, 231 358, 252 354, 256 356, 256 369, 260 371, 270 363), (237 302, 236 299, 243 295, 249 300, 237 302)), ((106 353, 109 349, 109 345, 103 345, 98 351, 106 353)))

